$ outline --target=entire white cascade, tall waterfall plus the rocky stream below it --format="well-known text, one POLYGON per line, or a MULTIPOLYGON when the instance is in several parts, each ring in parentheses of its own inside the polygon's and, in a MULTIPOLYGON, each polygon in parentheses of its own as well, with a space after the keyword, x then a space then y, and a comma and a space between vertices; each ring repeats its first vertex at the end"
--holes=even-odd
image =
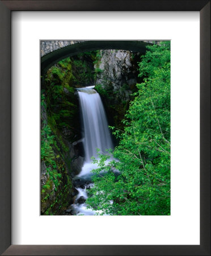
POLYGON ((83 147, 85 150, 85 163, 79 175, 75 177, 78 181, 79 192, 75 204, 73 204, 74 214, 94 215, 95 211, 86 208, 87 193, 86 188, 91 187, 91 170, 97 168, 96 164, 91 163, 91 157, 98 158, 96 148, 106 152, 113 148, 111 135, 108 129, 106 113, 99 94, 94 90, 95 86, 79 88, 78 96, 82 116, 83 147))

